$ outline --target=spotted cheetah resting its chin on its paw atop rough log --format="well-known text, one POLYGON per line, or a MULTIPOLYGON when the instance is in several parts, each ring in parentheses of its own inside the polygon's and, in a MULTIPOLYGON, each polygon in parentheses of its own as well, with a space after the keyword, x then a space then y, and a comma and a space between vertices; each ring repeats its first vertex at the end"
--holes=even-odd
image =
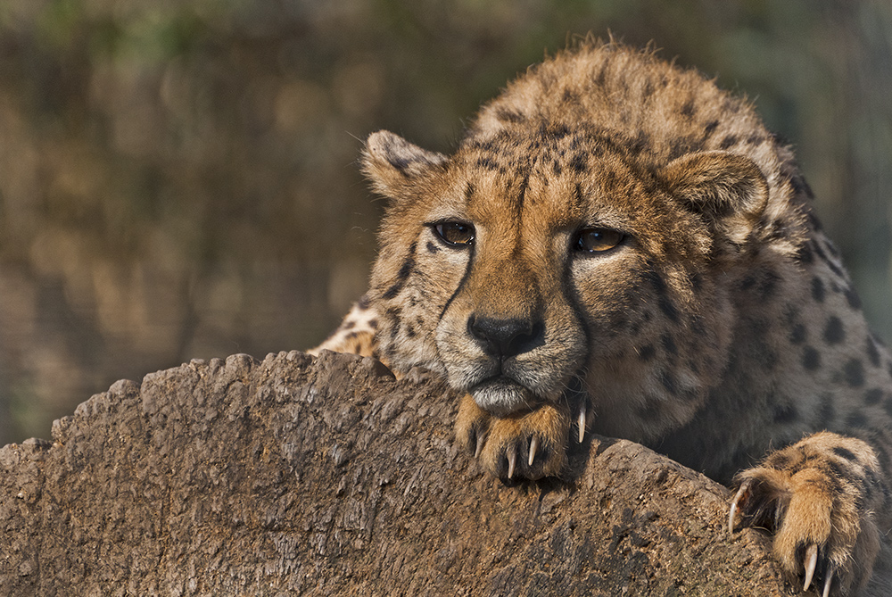
POLYGON ((496 477, 559 477, 570 442, 624 437, 730 485, 731 532, 769 529, 805 590, 892 594, 872 574, 892 356, 745 99, 590 37, 451 155, 379 131, 362 163, 389 202, 380 250, 317 352, 442 376, 458 444, 496 477))

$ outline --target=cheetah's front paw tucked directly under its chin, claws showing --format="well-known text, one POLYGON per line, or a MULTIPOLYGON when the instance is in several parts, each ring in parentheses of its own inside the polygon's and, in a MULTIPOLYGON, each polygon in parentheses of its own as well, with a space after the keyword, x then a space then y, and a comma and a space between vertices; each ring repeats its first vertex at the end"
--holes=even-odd
MULTIPOLYGON (((580 417, 582 441, 585 413, 580 417)), ((535 410, 494 417, 465 395, 458 408, 458 443, 474 452, 496 477, 556 477, 566 468, 570 414, 566 407, 543 404, 535 410)))

